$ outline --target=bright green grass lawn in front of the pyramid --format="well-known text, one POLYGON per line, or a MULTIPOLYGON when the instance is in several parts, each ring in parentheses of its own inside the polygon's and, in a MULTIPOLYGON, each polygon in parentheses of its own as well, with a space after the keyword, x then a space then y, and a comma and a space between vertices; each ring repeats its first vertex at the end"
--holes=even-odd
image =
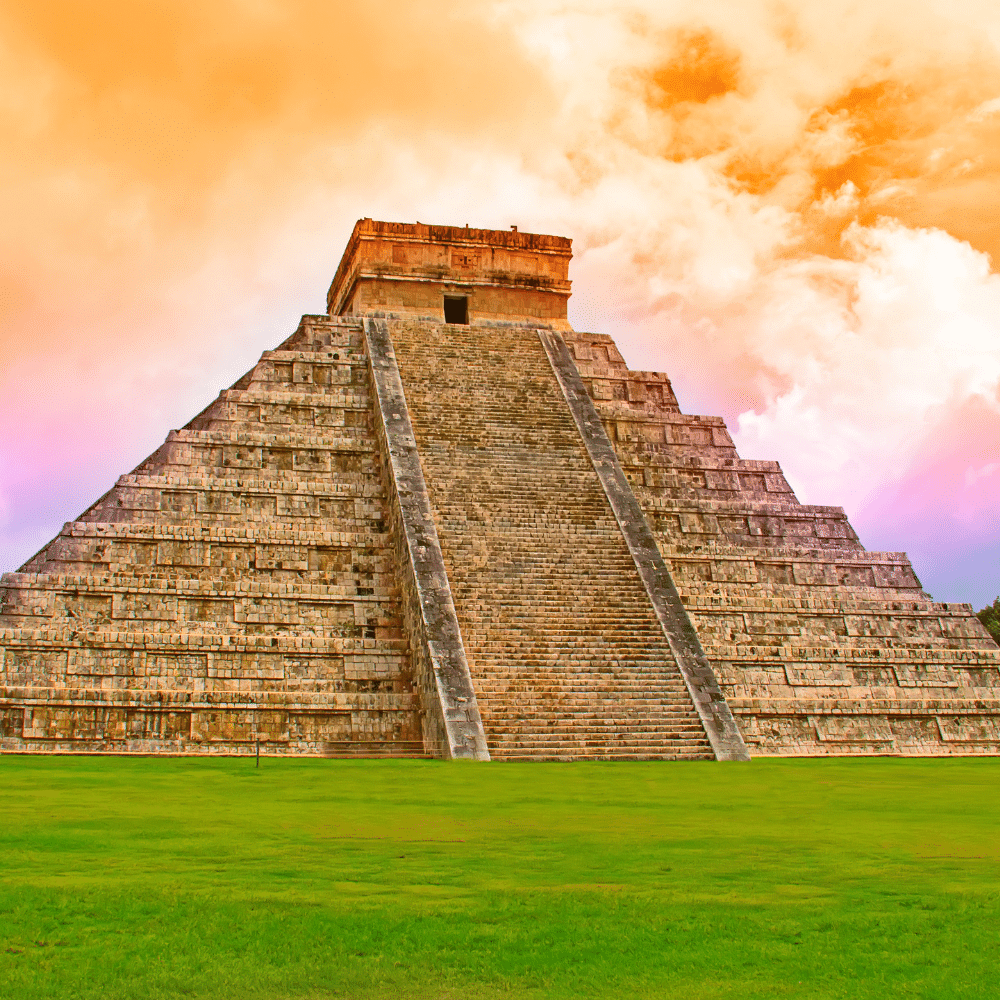
POLYGON ((1000 760, 0 757, 0 997, 1000 996, 1000 760))

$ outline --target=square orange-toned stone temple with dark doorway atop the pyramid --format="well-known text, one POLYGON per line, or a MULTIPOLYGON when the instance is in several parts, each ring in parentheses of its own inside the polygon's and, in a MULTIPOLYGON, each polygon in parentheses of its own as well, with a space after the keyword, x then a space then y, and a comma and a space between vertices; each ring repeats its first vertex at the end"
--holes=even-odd
POLYGON ((510 230, 361 219, 327 294, 331 316, 567 326, 573 241, 510 230))

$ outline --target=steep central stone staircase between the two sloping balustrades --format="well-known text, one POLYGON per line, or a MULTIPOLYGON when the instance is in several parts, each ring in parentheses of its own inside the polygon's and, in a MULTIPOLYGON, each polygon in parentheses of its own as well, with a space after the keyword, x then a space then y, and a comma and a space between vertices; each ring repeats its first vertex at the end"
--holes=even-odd
POLYGON ((389 326, 491 755, 713 756, 535 331, 389 326))

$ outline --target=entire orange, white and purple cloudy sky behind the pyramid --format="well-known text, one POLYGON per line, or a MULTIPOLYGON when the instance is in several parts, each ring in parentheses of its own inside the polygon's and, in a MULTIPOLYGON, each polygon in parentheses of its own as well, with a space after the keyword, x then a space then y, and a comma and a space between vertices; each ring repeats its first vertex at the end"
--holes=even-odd
POLYGON ((0 569, 372 217, 572 237, 577 329, 1000 593, 995 2, 0 0, 0 128, 0 569))

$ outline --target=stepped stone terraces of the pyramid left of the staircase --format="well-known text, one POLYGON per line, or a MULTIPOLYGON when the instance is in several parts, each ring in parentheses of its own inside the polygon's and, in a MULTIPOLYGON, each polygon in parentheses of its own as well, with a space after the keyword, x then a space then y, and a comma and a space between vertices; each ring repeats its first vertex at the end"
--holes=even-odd
POLYGON ((424 756, 363 345, 304 317, 4 576, 4 749, 424 756))

